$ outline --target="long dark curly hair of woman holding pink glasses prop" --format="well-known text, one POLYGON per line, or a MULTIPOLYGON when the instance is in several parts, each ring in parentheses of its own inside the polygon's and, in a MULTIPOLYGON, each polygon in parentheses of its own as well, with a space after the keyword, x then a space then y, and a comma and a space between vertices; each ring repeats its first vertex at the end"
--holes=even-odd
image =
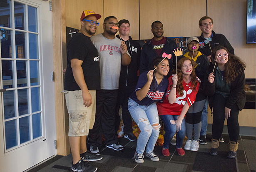
MULTIPOLYGON (((211 63, 213 65, 215 64, 216 51, 221 49, 224 49, 227 53, 229 53, 226 47, 216 46, 211 53, 211 63)), ((216 63, 216 66, 218 66, 218 63, 216 63)), ((237 75, 246 68, 246 64, 239 57, 231 53, 229 53, 228 62, 224 66, 224 79, 226 80, 227 83, 235 80, 237 75)))

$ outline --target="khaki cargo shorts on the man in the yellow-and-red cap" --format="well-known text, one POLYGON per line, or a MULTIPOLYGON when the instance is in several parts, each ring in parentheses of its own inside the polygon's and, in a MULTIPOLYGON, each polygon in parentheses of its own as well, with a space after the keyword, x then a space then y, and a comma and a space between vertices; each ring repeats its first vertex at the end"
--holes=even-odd
POLYGON ((67 111, 69 114, 70 130, 68 136, 88 136, 89 129, 92 129, 96 112, 96 90, 89 90, 92 96, 92 105, 85 107, 82 98, 82 91, 63 91, 66 98, 67 111))

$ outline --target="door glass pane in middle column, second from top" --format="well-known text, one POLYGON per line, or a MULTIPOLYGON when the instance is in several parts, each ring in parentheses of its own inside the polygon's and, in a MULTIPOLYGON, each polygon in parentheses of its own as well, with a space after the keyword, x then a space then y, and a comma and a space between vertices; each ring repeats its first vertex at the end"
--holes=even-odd
POLYGON ((16 58, 26 58, 25 33, 20 31, 15 31, 15 44, 16 44, 16 58))

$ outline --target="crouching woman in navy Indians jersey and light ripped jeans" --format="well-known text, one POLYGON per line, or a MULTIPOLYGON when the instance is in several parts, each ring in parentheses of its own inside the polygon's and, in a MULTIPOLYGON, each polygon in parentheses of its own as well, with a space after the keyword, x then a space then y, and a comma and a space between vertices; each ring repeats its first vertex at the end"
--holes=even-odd
POLYGON ((135 91, 128 101, 128 110, 141 131, 134 153, 134 160, 137 163, 144 162, 146 145, 145 155, 152 161, 159 161, 159 157, 153 152, 160 131, 156 102, 162 100, 167 90, 168 79, 165 76, 168 72, 168 59, 154 58, 152 70, 139 75, 135 91))

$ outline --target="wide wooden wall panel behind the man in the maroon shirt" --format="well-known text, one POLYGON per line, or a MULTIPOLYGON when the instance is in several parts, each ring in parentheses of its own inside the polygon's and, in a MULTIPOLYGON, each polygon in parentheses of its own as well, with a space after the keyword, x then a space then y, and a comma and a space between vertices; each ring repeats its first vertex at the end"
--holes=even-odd
POLYGON ((206 0, 140 0, 140 38, 151 39, 152 22, 164 25, 164 36, 199 36, 199 19, 206 15, 206 0))

